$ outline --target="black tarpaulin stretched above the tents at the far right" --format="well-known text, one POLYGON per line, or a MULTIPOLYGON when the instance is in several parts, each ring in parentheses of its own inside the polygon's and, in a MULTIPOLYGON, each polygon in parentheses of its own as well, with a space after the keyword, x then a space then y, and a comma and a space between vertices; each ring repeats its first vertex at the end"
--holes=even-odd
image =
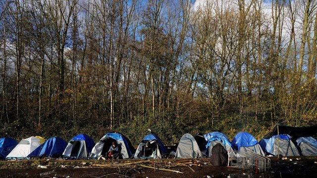
POLYGON ((283 125, 277 124, 273 128, 273 131, 266 134, 263 138, 269 139, 273 135, 277 135, 277 134, 288 134, 295 141, 299 137, 313 136, 317 134, 317 125, 311 126, 311 127, 290 127, 290 126, 283 126, 283 125))

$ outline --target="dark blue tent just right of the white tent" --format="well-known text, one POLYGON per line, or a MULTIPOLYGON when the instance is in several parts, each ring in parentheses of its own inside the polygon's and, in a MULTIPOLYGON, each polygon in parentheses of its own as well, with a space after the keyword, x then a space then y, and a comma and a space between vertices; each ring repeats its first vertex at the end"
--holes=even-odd
POLYGON ((58 158, 62 156, 67 146, 67 142, 60 137, 51 137, 47 139, 41 146, 36 148, 28 157, 52 157, 58 158))

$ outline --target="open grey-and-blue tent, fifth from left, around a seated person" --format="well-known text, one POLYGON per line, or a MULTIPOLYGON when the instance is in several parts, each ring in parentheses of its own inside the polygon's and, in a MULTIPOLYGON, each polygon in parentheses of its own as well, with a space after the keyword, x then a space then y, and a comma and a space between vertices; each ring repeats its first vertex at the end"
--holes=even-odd
POLYGON ((97 159, 98 157, 106 156, 107 151, 109 150, 113 141, 116 141, 121 146, 121 155, 122 159, 127 159, 132 157, 135 152, 133 146, 131 146, 130 140, 125 137, 123 134, 119 133, 107 133, 105 134, 100 141, 94 146, 90 158, 97 159))

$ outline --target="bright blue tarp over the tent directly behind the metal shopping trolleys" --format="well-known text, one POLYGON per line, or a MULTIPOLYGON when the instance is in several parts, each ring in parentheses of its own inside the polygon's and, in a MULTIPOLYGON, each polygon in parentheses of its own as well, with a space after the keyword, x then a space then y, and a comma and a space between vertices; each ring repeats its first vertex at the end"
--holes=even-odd
POLYGON ((240 147, 250 147, 250 146, 254 146, 256 144, 258 144, 257 139, 255 139, 254 136, 252 136, 252 134, 249 134, 247 132, 241 132, 238 133, 233 140, 231 141, 232 147, 235 150, 239 150, 240 151, 240 147))

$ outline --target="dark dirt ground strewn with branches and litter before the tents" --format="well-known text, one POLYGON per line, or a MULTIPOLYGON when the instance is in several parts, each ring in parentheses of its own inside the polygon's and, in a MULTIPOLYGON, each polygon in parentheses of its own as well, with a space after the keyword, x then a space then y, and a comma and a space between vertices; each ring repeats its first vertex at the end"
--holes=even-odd
POLYGON ((1 161, 0 178, 317 178, 317 157, 271 159, 265 173, 215 167, 209 159, 1 161), (42 168, 41 168, 42 166, 42 168), (155 169, 154 169, 155 168, 155 169), (158 170, 165 169, 165 170, 158 170))

